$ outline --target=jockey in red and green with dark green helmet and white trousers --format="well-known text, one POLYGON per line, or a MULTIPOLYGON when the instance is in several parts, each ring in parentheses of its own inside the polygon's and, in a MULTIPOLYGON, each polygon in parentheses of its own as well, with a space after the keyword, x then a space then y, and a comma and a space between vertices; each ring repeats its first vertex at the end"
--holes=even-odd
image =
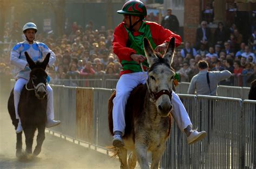
MULTIPOLYGON (((116 96, 113 98, 113 140, 112 145, 122 147, 125 145, 125 109, 131 91, 139 84, 145 84, 147 72, 143 69, 149 64, 144 53, 143 38, 149 39, 155 52, 165 52, 171 38, 175 38, 176 47, 180 45, 181 38, 178 34, 164 29, 163 26, 146 22, 146 6, 140 1, 126 2, 122 10, 117 13, 123 14, 123 22, 114 29, 113 52, 117 55, 123 70, 116 86, 116 96)), ((179 96, 172 91, 172 116, 176 120, 179 129, 187 136, 187 143, 193 144, 206 136, 205 131, 192 130, 192 123, 179 96)))

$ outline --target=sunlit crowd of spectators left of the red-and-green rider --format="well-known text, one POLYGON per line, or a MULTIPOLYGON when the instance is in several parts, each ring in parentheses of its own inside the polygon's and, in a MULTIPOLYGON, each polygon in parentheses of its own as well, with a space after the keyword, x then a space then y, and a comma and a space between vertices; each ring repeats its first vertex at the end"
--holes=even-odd
MULTIPOLYGON (((22 39, 22 31, 19 30, 19 33, 22 39)), ((118 78, 122 69, 113 53, 113 30, 105 30, 104 26, 100 30, 93 30, 91 25, 83 30, 74 22, 71 32, 62 37, 38 32, 36 40, 45 43, 56 54, 55 64, 47 69, 52 81, 93 78, 105 74, 118 78)), ((4 69, 6 65, 10 66, 9 59, 9 53, 1 57, 0 63, 4 69)))

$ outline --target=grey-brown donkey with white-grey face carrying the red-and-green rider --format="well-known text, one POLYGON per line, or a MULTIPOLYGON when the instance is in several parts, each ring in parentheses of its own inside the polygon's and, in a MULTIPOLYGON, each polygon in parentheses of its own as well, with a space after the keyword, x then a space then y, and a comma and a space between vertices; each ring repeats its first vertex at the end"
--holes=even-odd
MULTIPOLYGON (((133 89, 125 109, 125 135, 123 147, 111 147, 114 157, 118 156, 121 168, 149 168, 147 151, 152 152, 151 168, 158 168, 165 150, 165 142, 170 136, 172 125, 172 90, 175 72, 171 68, 175 51, 172 38, 164 57, 154 52, 149 40, 144 38, 144 51, 150 68, 146 85, 133 89), (131 151, 127 164, 127 151, 131 151)), ((146 77, 145 77, 146 78, 146 77)), ((113 133, 113 93, 109 99, 109 130, 113 133)))

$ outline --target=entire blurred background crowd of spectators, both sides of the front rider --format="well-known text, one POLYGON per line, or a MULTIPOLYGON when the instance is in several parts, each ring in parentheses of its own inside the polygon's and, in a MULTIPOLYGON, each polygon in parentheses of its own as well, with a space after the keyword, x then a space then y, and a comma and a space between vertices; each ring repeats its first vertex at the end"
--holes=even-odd
MULTIPOLYGON (((211 71, 227 69, 232 73, 231 78, 221 81, 220 85, 250 86, 250 82, 256 79, 256 11, 250 12, 252 17, 246 30, 240 25, 244 16, 235 15, 235 3, 228 6, 228 11, 231 12, 227 17, 230 19, 217 22, 215 29, 210 28, 214 19, 213 11, 212 3, 205 5, 201 12, 200 26, 193 33, 196 43, 184 41, 176 49, 172 67, 180 74, 180 81, 190 82, 199 72, 198 61, 206 60, 211 71)), ((172 14, 172 9, 167 9, 166 15, 160 18, 159 13, 155 15, 154 12, 148 12, 146 20, 157 22, 175 33, 181 33, 180 21, 172 14)), ((10 50, 14 43, 23 41, 22 24, 5 23, 4 43, 9 45, 6 45, 1 53, 0 74, 11 76, 10 50)), ((97 79, 102 76, 119 78, 122 65, 113 53, 113 29, 106 29, 105 25, 96 29, 95 21, 89 21, 85 26, 72 22, 65 25, 60 36, 52 31, 39 30, 36 40, 48 45, 56 54, 55 64, 47 69, 52 81, 97 79)))

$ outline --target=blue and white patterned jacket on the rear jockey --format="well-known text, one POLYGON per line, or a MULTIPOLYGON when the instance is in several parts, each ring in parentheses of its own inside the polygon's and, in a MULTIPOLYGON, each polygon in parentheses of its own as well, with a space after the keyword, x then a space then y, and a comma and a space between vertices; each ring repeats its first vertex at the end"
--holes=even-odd
POLYGON ((55 53, 53 53, 48 46, 44 43, 34 41, 33 44, 29 44, 27 40, 24 40, 21 43, 16 44, 11 50, 11 65, 15 66, 15 78, 24 78, 29 80, 29 74, 31 69, 29 66, 26 66, 28 62, 24 52, 28 52, 31 59, 36 61, 43 61, 46 54, 51 53, 50 60, 48 65, 52 66, 56 60, 55 53))

